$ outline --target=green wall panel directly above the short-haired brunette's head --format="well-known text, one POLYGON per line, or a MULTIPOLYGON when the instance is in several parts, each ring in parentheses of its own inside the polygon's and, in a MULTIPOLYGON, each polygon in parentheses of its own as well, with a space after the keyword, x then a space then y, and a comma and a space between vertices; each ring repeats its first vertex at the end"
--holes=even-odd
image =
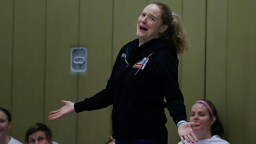
POLYGON ((14 2, 12 136, 43 122, 45 1, 14 2))

